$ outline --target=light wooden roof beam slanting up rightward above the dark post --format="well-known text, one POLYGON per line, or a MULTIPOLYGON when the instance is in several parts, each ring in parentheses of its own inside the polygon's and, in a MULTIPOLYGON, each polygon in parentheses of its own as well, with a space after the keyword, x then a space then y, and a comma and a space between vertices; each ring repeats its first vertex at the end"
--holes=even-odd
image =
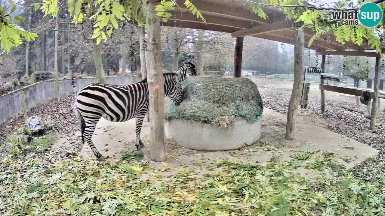
POLYGON ((252 35, 259 35, 264 33, 276 32, 283 29, 293 28, 293 22, 280 21, 275 23, 269 23, 259 25, 252 28, 247 28, 231 33, 231 37, 246 37, 252 35))

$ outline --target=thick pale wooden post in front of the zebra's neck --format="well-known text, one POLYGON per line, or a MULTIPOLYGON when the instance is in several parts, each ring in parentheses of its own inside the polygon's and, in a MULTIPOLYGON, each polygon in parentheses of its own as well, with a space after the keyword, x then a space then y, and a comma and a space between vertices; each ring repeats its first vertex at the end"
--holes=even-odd
POLYGON ((149 0, 147 10, 151 12, 152 23, 146 25, 148 34, 149 67, 147 83, 150 102, 150 150, 154 161, 165 161, 164 154, 164 77, 161 66, 161 23, 155 10, 157 0, 149 0))

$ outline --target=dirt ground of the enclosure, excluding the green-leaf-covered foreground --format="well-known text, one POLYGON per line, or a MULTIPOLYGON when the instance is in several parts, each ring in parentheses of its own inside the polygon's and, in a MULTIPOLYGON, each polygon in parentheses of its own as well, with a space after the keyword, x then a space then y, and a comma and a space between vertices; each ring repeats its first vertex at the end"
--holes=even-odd
MULTIPOLYGON (((364 118, 362 114, 340 107, 341 105, 354 107, 355 97, 325 91, 326 112, 319 113, 320 91, 316 83, 311 83, 308 108, 306 110, 298 109, 296 139, 303 144, 298 148, 281 147, 278 141, 283 138, 285 133, 285 114, 293 82, 264 78, 251 79, 257 84, 264 101, 262 137, 258 143, 236 151, 202 152, 182 148, 177 143, 167 139, 165 151, 168 166, 178 168, 185 166, 185 164, 198 163, 197 161, 211 163, 210 160, 216 157, 262 163, 270 161, 273 157, 287 160, 293 149, 298 149, 320 151, 313 156, 321 155, 325 151, 335 153, 339 160, 351 167, 354 163, 362 162, 367 154, 374 154, 377 150, 379 150, 380 155, 383 154, 382 144, 385 143, 385 139, 382 131, 385 116, 382 112, 377 119, 377 130, 370 131, 370 121, 364 118), (370 146, 377 150, 370 148, 370 146)), ((89 147, 87 145, 82 146, 79 126, 72 111, 73 100, 74 95, 71 95, 60 102, 52 101, 52 103, 28 112, 28 115, 40 114, 47 120, 59 120, 62 129, 56 131, 58 139, 50 150, 58 158, 73 156, 68 152, 79 149, 81 149, 82 155, 92 156, 89 147)), ((360 109, 366 110, 366 106, 360 105, 360 109)), ((6 129, 3 130, 6 134, 12 130, 13 126, 22 125, 22 122, 21 116, 0 130, 6 129)), ((149 158, 148 135, 148 123, 144 123, 141 137, 146 145, 146 148, 143 149, 146 158, 149 158)), ((124 123, 100 120, 94 132, 93 141, 104 156, 110 156, 109 160, 117 160, 122 150, 134 147, 134 136, 135 120, 124 123)), ((164 164, 151 162, 151 166, 160 168, 164 167, 164 164)))

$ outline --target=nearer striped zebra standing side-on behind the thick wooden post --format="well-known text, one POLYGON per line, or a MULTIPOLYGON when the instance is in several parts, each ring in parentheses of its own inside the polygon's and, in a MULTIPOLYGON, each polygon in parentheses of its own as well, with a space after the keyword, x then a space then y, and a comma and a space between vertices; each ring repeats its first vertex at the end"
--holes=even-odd
MULTIPOLYGON (((182 102, 182 87, 179 74, 164 73, 164 95, 171 98, 175 105, 182 102)), ((92 134, 100 118, 112 122, 128 121, 136 118, 135 146, 143 147, 140 139, 144 116, 149 111, 149 90, 147 79, 131 85, 104 85, 94 83, 82 88, 75 99, 82 140, 90 146, 99 161, 104 160, 92 143, 92 134)))

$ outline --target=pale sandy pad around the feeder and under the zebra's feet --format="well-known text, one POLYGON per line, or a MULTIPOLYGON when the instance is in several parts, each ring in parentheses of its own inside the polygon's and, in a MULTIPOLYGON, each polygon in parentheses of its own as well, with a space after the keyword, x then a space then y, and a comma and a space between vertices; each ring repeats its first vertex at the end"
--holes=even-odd
MULTIPOLYGON (((290 160, 292 150, 309 150, 316 151, 313 156, 321 156, 323 152, 331 152, 336 154, 336 160, 341 161, 348 168, 355 163, 361 163, 365 160, 365 155, 375 154, 377 150, 370 146, 359 143, 346 136, 339 135, 323 127, 321 119, 314 119, 308 116, 298 116, 296 139, 303 143, 298 148, 286 148, 278 144, 278 140, 283 138, 285 133, 286 115, 273 110, 265 109, 262 117, 262 137, 252 146, 248 146, 248 150, 232 150, 232 151, 194 151, 187 150, 181 152, 183 148, 178 148, 177 144, 166 145, 166 161, 167 166, 172 168, 193 168, 195 163, 211 163, 217 157, 229 158, 242 162, 264 163, 271 160, 273 156, 278 156, 281 160, 290 160), (348 149, 346 149, 348 148, 348 149), (350 160, 346 163, 343 160, 350 160)), ((142 128, 142 141, 145 148, 142 149, 145 158, 150 158, 148 143, 149 127, 148 123, 144 123, 142 128)), ((96 148, 104 156, 109 156, 108 160, 118 160, 119 153, 125 146, 134 145, 135 138, 135 120, 124 123, 112 123, 107 120, 100 120, 97 124, 94 136, 92 137, 96 148), (115 126, 115 127, 114 127, 115 126)), ((87 145, 81 150, 81 154, 85 157, 93 156, 87 145)), ((150 166, 161 170, 164 168, 163 163, 151 161, 150 166)), ((177 169, 169 169, 169 171, 161 174, 169 176, 177 172, 177 169)), ((199 174, 208 173, 209 170, 199 171, 199 174)), ((314 177, 313 172, 300 169, 300 174, 314 177)), ((144 176, 143 178, 146 178, 144 176)))

